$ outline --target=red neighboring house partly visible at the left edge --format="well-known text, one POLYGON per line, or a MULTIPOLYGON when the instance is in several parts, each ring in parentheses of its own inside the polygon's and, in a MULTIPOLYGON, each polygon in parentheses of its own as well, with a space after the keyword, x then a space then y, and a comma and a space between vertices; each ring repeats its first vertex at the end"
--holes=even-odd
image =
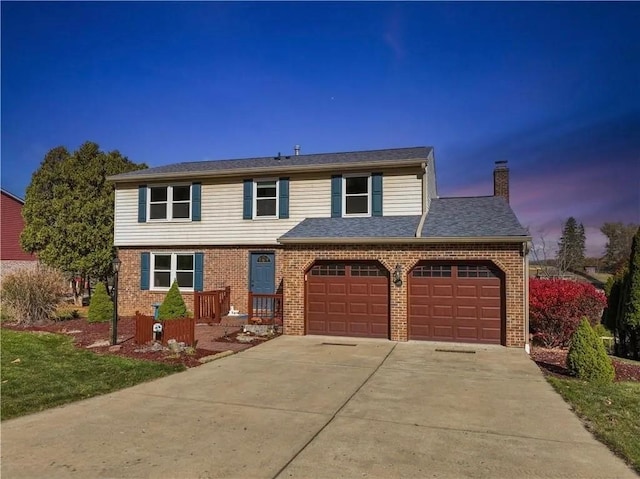
POLYGON ((25 253, 20 246, 20 233, 24 229, 22 206, 24 200, 0 189, 0 283, 2 278, 16 270, 35 268, 38 259, 25 253))

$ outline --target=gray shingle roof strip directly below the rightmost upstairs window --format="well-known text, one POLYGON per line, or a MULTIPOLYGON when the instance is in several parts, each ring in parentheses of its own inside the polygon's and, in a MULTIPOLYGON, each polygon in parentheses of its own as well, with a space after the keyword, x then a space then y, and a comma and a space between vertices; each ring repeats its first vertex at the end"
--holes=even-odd
POLYGON ((282 235, 295 238, 414 238, 420 216, 307 218, 282 235))

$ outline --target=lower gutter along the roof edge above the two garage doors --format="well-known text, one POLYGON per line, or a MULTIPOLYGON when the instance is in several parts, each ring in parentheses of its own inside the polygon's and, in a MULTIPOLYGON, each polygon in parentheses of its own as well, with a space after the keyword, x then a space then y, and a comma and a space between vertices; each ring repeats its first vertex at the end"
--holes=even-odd
POLYGON ((530 241, 530 236, 481 236, 481 237, 316 237, 316 238, 278 238, 280 244, 399 244, 399 243, 418 243, 418 244, 437 244, 437 243, 522 243, 530 241))

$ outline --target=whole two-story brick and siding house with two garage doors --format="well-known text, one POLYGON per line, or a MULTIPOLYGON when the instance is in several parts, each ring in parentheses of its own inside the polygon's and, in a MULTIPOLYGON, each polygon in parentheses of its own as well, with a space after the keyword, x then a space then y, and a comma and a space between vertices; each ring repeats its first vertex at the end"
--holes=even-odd
MULTIPOLYGON (((440 198, 431 147, 201 161, 109 178, 119 310, 175 279, 284 302, 284 333, 528 347, 530 237, 494 195, 440 198)), ((247 306, 245 306, 247 305, 247 306)), ((249 311, 251 314, 251 311, 249 311)))

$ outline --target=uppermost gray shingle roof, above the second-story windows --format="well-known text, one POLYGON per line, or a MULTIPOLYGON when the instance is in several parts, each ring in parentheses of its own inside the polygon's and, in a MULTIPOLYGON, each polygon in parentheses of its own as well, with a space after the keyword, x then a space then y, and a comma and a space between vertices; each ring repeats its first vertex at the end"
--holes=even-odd
POLYGON ((229 173, 235 170, 286 170, 295 167, 313 167, 345 165, 349 163, 394 162, 402 160, 426 160, 432 148, 419 146, 412 148, 394 148, 388 150, 352 151, 344 153, 319 153, 311 155, 282 155, 279 159, 274 156, 260 158, 244 158, 235 160, 212 160, 175 163, 171 165, 147 168, 146 170, 131 171, 109 177, 113 181, 144 179, 147 177, 166 177, 172 175, 202 176, 205 174, 229 173))

